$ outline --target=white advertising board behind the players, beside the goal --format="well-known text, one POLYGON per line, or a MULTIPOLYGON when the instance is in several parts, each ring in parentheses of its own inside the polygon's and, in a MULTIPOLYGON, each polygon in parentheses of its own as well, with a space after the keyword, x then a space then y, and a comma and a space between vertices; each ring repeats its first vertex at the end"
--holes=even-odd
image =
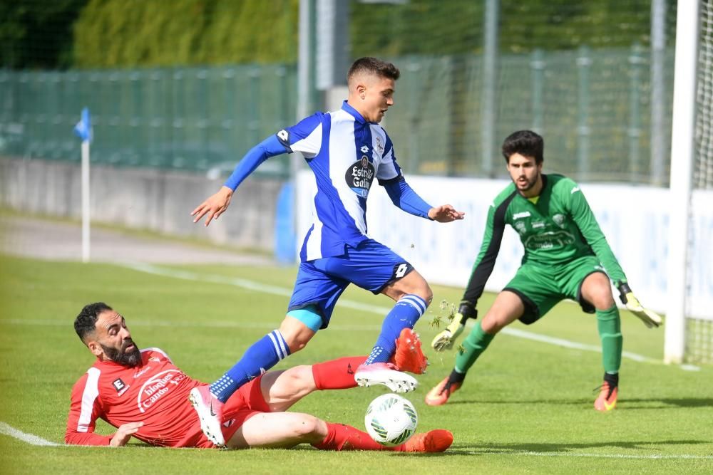
MULTIPOLYGON (((298 252, 312 224, 313 177, 311 171, 303 170, 297 180, 298 252)), ((453 204, 466 212, 466 218, 440 224, 412 216, 395 207, 384 189, 374 182, 366 212, 369 236, 411 262, 429 283, 464 288, 480 250, 488 207, 508 182, 444 177, 407 179, 429 204, 453 204)), ((669 190, 626 184, 580 184, 580 188, 631 288, 646 306, 665 311, 669 190)), ((713 192, 696 192, 692 205, 688 313, 713 319, 713 192)), ((500 291, 515 274, 522 256, 518 234, 508 226, 486 290, 500 291)))

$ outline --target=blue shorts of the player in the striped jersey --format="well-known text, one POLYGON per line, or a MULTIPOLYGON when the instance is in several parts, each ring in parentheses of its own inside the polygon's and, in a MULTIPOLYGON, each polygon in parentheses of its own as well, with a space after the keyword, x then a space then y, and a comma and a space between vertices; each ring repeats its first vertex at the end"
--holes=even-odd
POLYGON ((384 244, 367 239, 356 248, 346 246, 342 256, 302 262, 287 311, 317 307, 322 326, 327 328, 339 296, 349 283, 381 293, 390 283, 414 270, 414 266, 384 244))

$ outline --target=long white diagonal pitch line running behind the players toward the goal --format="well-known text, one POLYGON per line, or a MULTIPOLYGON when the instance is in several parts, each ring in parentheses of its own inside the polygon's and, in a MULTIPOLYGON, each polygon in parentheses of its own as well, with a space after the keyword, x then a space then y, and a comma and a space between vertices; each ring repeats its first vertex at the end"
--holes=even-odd
MULTIPOLYGON (((249 281, 244 278, 215 276, 215 275, 202 275, 199 273, 193 273, 193 272, 188 272, 188 271, 177 271, 175 269, 170 269, 170 268, 161 268, 161 267, 153 266, 151 264, 146 264, 146 263, 125 263, 125 264, 117 264, 117 265, 123 266, 126 268, 130 268, 135 271, 152 273, 152 274, 155 274, 158 276, 182 278, 187 281, 225 283, 225 284, 231 285, 231 286, 247 288, 248 290, 251 290, 251 291, 272 293, 273 295, 278 295, 278 296, 289 297, 292 295, 292 291, 290 291, 287 288, 269 286, 269 285, 266 285, 263 283, 249 281)), ((345 308, 353 308, 354 310, 363 310, 365 312, 376 313, 378 315, 386 315, 386 313, 389 313, 389 311, 391 310, 391 308, 387 308, 387 307, 367 305, 365 303, 350 301, 347 298, 340 298, 339 301, 337 301, 337 306, 345 307, 345 308)), ((352 325, 352 328, 356 329, 356 326, 357 325, 352 325)), ((329 328, 332 328, 332 326, 330 326, 329 328)), ((359 328, 362 328, 362 327, 359 327, 359 328)), ((334 329, 342 330, 342 329, 347 329, 347 328, 339 328, 338 325, 334 325, 334 329)), ((369 327, 369 329, 371 329, 371 326, 369 327)), ((535 341, 539 341, 541 343, 548 343, 550 345, 562 346, 564 348, 573 348, 575 350, 593 351, 595 353, 601 353, 601 351, 602 351, 601 348, 599 348, 598 346, 595 346, 595 345, 585 345, 584 343, 577 343, 577 342, 570 341, 570 340, 563 340, 562 338, 554 338, 554 337, 550 337, 547 335, 539 335, 538 333, 532 333, 532 332, 528 332, 525 330, 518 330, 516 328, 503 328, 503 330, 501 330, 501 332, 505 333, 506 335, 511 335, 511 336, 515 336, 518 338, 525 338, 527 340, 535 340, 535 341)), ((662 363, 660 360, 655 360, 654 358, 650 358, 650 357, 643 356, 643 355, 638 355, 637 353, 631 353, 629 351, 623 352, 622 357, 629 358, 630 360, 634 360, 634 361, 638 361, 638 362, 647 362, 647 363, 655 363, 655 364, 662 363)), ((682 370, 687 370, 687 371, 700 370, 699 367, 694 366, 694 365, 679 365, 678 367, 681 368, 682 370)))

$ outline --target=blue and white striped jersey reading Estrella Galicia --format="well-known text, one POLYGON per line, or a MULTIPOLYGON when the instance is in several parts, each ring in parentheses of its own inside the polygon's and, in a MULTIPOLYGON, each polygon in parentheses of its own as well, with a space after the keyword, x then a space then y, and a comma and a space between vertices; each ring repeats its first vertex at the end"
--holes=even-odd
POLYGON ((366 198, 374 177, 380 184, 401 179, 394 146, 381 125, 367 122, 344 101, 342 109, 315 113, 277 132, 288 152, 302 152, 314 172, 317 193, 313 223, 301 261, 344 254, 366 237, 366 198))

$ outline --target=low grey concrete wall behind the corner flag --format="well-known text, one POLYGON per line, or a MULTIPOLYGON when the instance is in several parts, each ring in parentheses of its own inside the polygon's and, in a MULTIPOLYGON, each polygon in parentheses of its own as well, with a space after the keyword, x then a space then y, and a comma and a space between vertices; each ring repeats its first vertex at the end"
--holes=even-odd
MULTIPOLYGON (((80 167, 67 162, 0 159, 0 200, 19 212, 81 217, 80 167)), ((275 204, 283 182, 247 179, 230 208, 206 229, 190 212, 222 186, 223 179, 156 169, 91 167, 91 219, 220 244, 272 251, 275 204)))

